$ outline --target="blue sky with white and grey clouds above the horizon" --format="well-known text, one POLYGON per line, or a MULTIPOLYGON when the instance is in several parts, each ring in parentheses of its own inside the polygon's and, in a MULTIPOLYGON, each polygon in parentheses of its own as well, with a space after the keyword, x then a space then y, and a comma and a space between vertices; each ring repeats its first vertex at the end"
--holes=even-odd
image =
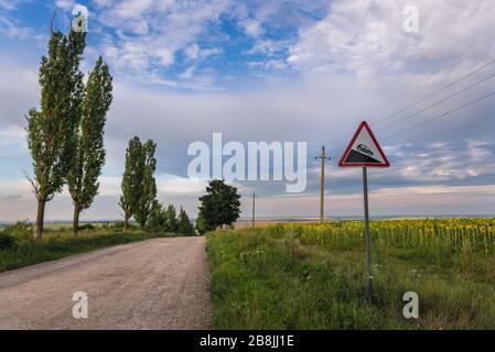
MULTIPOLYGON (((89 11, 83 69, 101 55, 115 77, 100 195, 83 219, 119 217, 125 150, 136 134, 158 143, 160 200, 195 216, 205 183, 187 178, 187 145, 211 144, 214 132, 225 142, 308 142, 304 193, 238 184, 259 195, 259 216, 318 216, 322 144, 333 158, 327 215, 361 215, 361 170, 336 162, 362 120, 391 164, 369 172, 373 215, 495 212, 492 0, 79 3, 89 11)), ((24 114, 39 103, 50 19, 56 10, 54 25, 66 32, 75 4, 0 0, 0 220, 34 218, 24 114)), ((246 198, 243 209, 249 216, 246 198)), ((46 209, 52 220, 71 215, 66 191, 46 209)))

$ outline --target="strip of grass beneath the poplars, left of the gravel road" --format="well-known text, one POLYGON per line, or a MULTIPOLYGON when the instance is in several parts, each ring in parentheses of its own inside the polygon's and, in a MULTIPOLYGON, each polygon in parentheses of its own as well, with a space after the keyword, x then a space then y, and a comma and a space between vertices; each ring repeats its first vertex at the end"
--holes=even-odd
MULTIPOLYGON (((117 244, 172 237, 172 234, 136 229, 123 233, 121 229, 109 227, 80 230, 79 235, 75 238, 69 230, 47 229, 42 240, 32 242, 30 240, 32 230, 22 224, 19 228, 10 234, 12 243, 0 246, 0 273, 117 244)), ((7 238, 7 233, 2 231, 0 237, 7 238)))

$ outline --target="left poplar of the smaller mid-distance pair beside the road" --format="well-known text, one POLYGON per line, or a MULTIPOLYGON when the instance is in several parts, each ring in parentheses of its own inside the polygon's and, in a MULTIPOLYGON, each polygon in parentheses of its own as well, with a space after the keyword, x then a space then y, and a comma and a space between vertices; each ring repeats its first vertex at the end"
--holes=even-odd
POLYGON ((123 211, 123 231, 129 227, 129 220, 137 211, 142 194, 142 182, 144 178, 143 146, 141 140, 134 136, 129 141, 126 151, 126 168, 122 176, 122 195, 119 206, 123 211))

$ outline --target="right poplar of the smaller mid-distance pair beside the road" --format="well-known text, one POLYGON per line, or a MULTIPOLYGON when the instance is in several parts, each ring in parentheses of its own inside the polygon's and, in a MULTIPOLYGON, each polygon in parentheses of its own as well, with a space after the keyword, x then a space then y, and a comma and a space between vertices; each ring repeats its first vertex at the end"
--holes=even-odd
POLYGON ((143 178, 141 183, 142 190, 138 200, 137 208, 133 212, 136 221, 144 228, 148 219, 150 218, 153 201, 157 198, 157 182, 154 179, 154 172, 157 170, 157 158, 154 152, 157 150, 157 143, 149 140, 142 145, 141 157, 144 158, 140 165, 143 165, 143 178))

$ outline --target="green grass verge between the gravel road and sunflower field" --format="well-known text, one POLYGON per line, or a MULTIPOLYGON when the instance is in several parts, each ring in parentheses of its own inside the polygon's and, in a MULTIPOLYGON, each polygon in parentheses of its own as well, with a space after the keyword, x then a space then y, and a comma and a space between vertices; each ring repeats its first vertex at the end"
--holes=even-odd
POLYGON ((207 235, 216 329, 495 329, 495 258, 373 246, 367 301, 364 245, 303 244, 267 228, 207 235), (420 318, 402 316, 407 292, 420 318))

